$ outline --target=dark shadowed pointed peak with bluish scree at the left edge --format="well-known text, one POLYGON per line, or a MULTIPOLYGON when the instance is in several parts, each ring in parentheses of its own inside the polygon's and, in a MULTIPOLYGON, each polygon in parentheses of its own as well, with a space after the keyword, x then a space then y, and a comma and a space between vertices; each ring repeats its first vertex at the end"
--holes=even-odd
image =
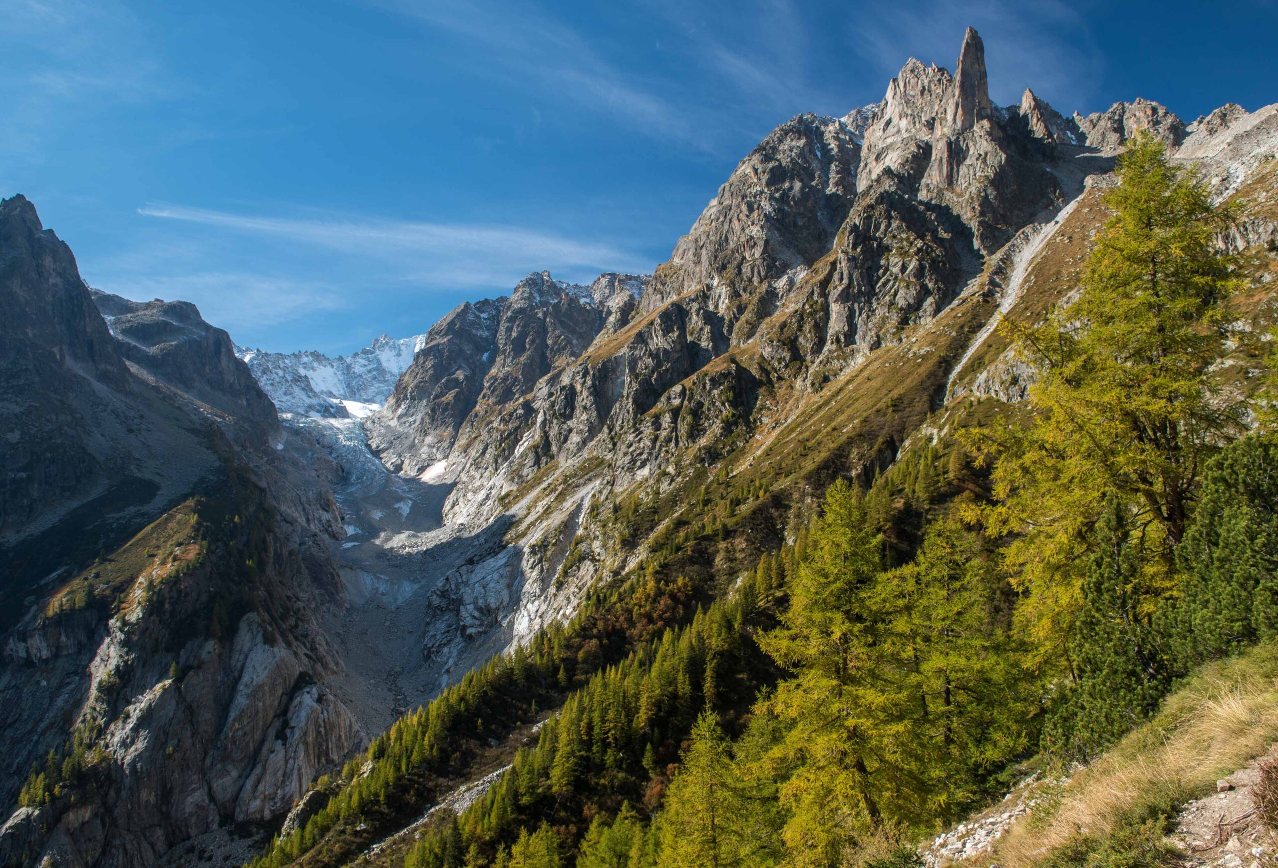
MULTIPOLYGON (((0 629, 70 547, 96 554, 216 465, 164 389, 138 377, 70 249, 15 196, 0 202, 0 629)), ((253 389, 254 392, 259 391, 253 389)))

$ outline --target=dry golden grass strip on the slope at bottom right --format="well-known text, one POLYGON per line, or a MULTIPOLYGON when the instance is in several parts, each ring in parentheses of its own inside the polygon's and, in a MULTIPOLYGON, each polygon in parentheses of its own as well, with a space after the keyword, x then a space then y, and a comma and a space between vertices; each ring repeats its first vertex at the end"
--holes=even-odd
POLYGON ((1180 805, 1278 741, 1278 647, 1204 667, 1154 720, 1051 793, 982 859, 1035 865, 1077 835, 1104 836, 1149 805, 1180 805))

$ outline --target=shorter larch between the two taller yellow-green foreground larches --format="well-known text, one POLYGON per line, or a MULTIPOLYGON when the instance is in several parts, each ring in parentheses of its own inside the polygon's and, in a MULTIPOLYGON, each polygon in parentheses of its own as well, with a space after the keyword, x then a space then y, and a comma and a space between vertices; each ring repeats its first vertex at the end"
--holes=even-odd
POLYGON ((982 779, 1025 750, 1036 690, 999 615, 1002 583, 980 537, 953 516, 870 594, 884 628, 872 651, 866 731, 886 816, 927 827, 976 803, 982 779))

